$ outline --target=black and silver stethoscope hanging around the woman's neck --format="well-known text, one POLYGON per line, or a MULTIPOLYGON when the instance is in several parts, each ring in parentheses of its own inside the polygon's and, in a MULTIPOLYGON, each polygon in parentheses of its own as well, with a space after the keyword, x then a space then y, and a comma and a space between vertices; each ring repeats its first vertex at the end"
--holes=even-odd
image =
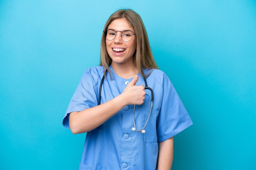
MULTIPOLYGON (((108 71, 106 70, 106 75, 107 75, 107 72, 108 71)), ((98 105, 101 104, 101 87, 102 87, 103 80, 104 80, 104 76, 102 77, 101 84, 99 86, 99 101, 98 101, 98 105)), ((149 116, 150 116, 150 113, 151 113, 151 109, 152 109, 152 106, 153 106, 153 90, 150 87, 148 87, 146 78, 144 78, 144 82, 145 82, 145 89, 149 89, 151 91, 151 104, 150 104, 150 111, 149 111, 149 114, 148 114, 147 121, 146 121, 146 123, 144 124, 144 126, 143 126, 143 128, 141 130, 137 130, 136 127, 135 127, 135 107, 136 107, 136 105, 134 105, 134 108, 133 108, 133 127, 132 127, 132 131, 137 131, 137 132, 141 132, 141 133, 145 133, 146 132, 144 130, 144 128, 146 127, 146 124, 148 123, 148 119, 149 119, 149 116)))

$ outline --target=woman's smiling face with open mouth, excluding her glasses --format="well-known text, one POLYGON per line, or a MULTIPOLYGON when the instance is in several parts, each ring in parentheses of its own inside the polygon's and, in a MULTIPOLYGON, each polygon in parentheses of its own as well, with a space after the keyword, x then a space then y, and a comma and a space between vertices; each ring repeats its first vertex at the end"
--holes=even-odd
POLYGON ((117 31, 116 37, 111 41, 106 39, 106 48, 108 55, 112 59, 112 65, 114 64, 126 64, 132 63, 132 56, 137 46, 136 35, 133 35, 132 39, 125 42, 121 39, 121 32, 124 30, 131 30, 135 33, 134 29, 128 24, 125 18, 113 20, 108 29, 117 31))

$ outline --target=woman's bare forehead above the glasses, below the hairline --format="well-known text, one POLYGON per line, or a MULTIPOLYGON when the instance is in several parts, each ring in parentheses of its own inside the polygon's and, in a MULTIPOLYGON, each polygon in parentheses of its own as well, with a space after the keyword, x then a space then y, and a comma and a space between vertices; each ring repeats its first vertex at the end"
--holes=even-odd
POLYGON ((110 28, 112 28, 114 30, 118 30, 118 31, 124 31, 124 30, 134 31, 133 28, 128 24, 128 22, 125 18, 113 20, 108 25, 108 29, 110 29, 110 28))

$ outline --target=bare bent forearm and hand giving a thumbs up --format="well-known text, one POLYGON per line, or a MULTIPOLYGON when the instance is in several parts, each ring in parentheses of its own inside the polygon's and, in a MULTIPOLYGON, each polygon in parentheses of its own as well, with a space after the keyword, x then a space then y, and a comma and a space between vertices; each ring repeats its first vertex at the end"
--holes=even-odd
POLYGON ((72 133, 84 133, 97 128, 126 105, 141 105, 146 92, 143 85, 135 86, 138 79, 135 76, 122 94, 108 102, 80 112, 71 112, 69 124, 72 133))

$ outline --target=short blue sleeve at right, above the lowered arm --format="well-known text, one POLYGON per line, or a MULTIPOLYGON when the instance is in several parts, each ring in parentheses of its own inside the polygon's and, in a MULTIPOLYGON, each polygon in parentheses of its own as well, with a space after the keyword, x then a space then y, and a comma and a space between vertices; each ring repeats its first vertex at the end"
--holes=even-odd
POLYGON ((163 75, 162 106, 157 118, 157 140, 163 142, 180 133, 193 122, 166 74, 163 75))

